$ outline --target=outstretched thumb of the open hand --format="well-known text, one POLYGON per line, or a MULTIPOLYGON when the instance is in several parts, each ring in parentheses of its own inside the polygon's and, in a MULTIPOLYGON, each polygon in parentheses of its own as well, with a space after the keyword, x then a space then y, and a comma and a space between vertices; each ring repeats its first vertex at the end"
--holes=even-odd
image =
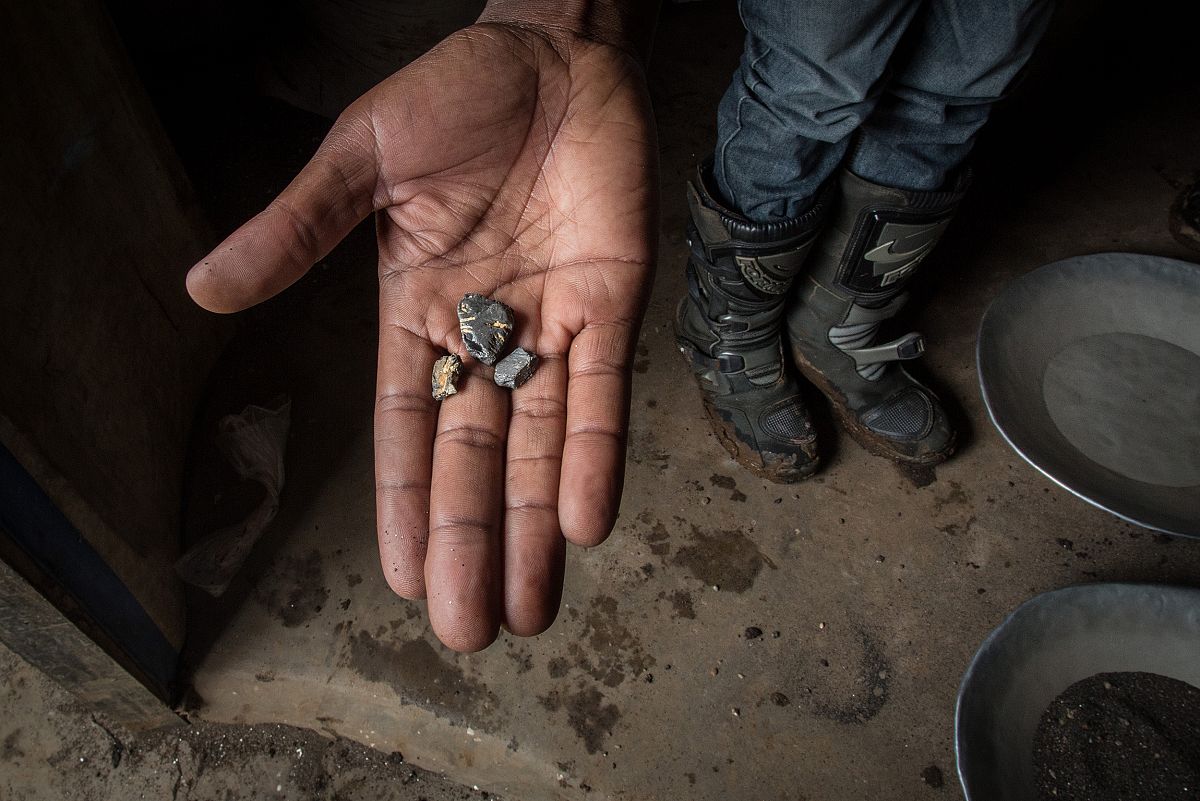
POLYGON ((378 168, 367 131, 338 120, 280 197, 188 271, 192 300, 210 312, 239 312, 283 291, 332 251, 373 210, 378 168))

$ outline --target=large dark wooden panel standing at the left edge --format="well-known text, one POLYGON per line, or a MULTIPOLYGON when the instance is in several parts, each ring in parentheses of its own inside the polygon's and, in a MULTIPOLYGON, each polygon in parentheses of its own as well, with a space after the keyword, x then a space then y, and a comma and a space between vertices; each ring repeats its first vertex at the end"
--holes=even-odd
POLYGON ((178 650, 187 436, 224 341, 184 275, 214 237, 98 2, 0 5, 0 444, 178 650))

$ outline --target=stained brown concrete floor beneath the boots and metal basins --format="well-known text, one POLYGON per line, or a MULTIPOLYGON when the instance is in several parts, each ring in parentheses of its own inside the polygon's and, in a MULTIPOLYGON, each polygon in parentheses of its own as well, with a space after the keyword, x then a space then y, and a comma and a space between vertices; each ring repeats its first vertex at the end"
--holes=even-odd
MULTIPOLYGON (((725 4, 668 10, 653 64, 661 269, 623 513, 608 543, 571 549, 547 633, 481 654, 442 648, 377 566, 374 266, 358 231, 247 317, 214 385, 210 420, 287 392, 294 426, 276 524, 226 598, 197 600, 193 716, 313 728, 529 801, 955 797, 959 677, 1008 612, 1081 582, 1200 579, 1200 543, 1124 524, 1021 462, 976 385, 978 320, 1016 276, 1098 251, 1195 259, 1166 221, 1198 167, 1200 94, 1168 79, 1135 92, 1096 41, 1058 37, 929 263, 940 281, 917 327, 961 406, 961 453, 917 487, 832 435, 827 470, 778 487, 709 434, 667 324, 683 177, 740 46, 725 4)), ((220 506, 197 498, 202 518, 220 506)))

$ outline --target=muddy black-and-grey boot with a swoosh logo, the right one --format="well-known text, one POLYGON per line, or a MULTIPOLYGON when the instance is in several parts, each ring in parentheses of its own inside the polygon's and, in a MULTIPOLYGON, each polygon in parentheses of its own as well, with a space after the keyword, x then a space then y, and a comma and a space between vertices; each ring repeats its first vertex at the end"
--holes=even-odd
POLYGON ((878 342, 880 327, 904 307, 905 288, 941 239, 966 183, 964 174, 949 191, 907 192, 842 170, 829 224, 787 313, 800 373, 863 447, 902 464, 944 462, 955 433, 934 391, 902 365, 924 353, 924 338, 878 342))

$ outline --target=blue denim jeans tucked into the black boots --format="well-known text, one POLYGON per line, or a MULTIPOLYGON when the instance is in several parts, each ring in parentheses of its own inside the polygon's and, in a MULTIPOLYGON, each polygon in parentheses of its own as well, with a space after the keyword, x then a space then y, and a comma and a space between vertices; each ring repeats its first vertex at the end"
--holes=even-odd
POLYGON ((755 222, 797 217, 845 163, 940 189, 1028 61, 1052 0, 740 0, 745 49, 714 176, 755 222))

